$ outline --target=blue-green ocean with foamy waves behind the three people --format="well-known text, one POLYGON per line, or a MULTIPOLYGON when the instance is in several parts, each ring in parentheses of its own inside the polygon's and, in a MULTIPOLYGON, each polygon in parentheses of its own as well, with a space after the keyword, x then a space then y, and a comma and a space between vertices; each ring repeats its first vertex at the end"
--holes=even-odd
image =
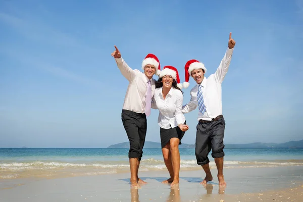
MULTIPOLYGON (((181 171, 201 169, 194 148, 180 148, 181 171)), ((225 149, 224 169, 302 166, 303 149, 225 149)), ((211 168, 216 168, 209 155, 211 168)), ((143 149, 140 170, 166 171, 159 148, 143 149)), ((0 179, 129 172, 126 148, 0 148, 0 179)))

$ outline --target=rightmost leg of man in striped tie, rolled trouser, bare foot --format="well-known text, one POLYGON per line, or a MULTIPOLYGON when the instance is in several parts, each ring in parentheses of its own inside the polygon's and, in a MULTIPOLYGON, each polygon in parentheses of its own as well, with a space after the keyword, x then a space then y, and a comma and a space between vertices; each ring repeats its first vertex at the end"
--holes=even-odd
POLYGON ((212 133, 211 133, 211 141, 212 141, 212 157, 215 159, 215 163, 218 169, 218 180, 219 186, 226 185, 223 175, 223 161, 224 161, 224 130, 225 130, 225 122, 224 119, 220 119, 213 124, 212 133))

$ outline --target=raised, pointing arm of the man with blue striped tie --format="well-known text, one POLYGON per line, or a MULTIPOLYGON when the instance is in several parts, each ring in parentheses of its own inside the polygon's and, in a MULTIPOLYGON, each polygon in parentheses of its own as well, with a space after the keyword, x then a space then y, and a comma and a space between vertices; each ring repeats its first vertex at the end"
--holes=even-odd
POLYGON ((215 79, 219 83, 223 82, 224 77, 225 77, 226 73, 228 72, 228 68, 230 65, 230 61, 231 61, 231 57, 232 57, 232 53, 233 53, 235 44, 236 44, 236 42, 233 38, 231 38, 231 32, 230 32, 227 51, 215 73, 215 79))

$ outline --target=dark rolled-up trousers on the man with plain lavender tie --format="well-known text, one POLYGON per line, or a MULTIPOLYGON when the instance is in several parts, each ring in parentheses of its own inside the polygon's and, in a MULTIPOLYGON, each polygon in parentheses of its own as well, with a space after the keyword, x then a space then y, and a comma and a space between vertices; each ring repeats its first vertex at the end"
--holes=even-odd
POLYGON ((141 161, 147 130, 146 115, 122 110, 121 119, 129 140, 128 158, 138 158, 141 161))

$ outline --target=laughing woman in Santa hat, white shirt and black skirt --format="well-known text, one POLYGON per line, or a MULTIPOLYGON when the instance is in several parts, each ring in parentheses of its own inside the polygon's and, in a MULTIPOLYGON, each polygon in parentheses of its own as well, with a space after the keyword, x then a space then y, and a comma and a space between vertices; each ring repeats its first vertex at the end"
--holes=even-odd
POLYGON ((179 184, 180 153, 179 144, 188 126, 181 112, 183 103, 182 85, 178 70, 165 66, 156 82, 152 108, 159 110, 158 124, 162 154, 170 178, 162 183, 179 184))

